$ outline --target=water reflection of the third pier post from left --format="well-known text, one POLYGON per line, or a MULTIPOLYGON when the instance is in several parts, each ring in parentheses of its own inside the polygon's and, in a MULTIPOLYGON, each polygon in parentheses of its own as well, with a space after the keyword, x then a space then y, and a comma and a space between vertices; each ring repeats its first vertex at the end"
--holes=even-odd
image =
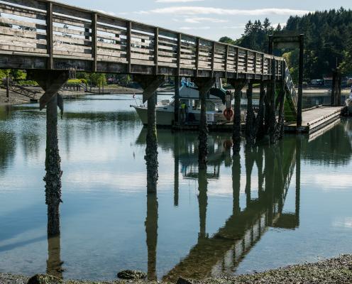
POLYGON ((199 204, 199 234, 198 239, 207 237, 207 206, 208 206, 207 166, 201 167, 198 173, 198 204, 199 204))

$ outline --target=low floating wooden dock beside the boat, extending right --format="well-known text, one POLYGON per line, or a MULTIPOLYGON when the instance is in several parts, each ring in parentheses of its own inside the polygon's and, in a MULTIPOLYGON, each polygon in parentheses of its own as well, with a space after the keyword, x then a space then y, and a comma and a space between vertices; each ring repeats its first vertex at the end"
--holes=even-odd
MULTIPOLYGON (((294 122, 285 123, 285 132, 287 133, 314 133, 323 129, 330 124, 334 124, 341 118, 343 107, 327 107, 319 106, 302 111, 302 126, 297 127, 294 122)), ((245 129, 245 124, 242 124, 242 130, 245 129)), ((224 124, 208 124, 209 131, 213 132, 231 132, 233 123, 224 124)), ((198 124, 185 124, 172 126, 175 131, 197 131, 198 124)))

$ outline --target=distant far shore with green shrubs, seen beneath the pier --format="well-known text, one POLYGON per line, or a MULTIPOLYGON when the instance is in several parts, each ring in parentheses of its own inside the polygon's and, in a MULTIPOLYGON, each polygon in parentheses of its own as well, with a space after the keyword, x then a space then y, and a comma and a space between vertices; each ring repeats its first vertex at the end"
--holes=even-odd
MULTIPOLYGON (((35 95, 35 99, 39 99, 43 95, 43 90, 40 87, 28 87, 29 89, 35 89, 39 93, 35 95)), ((234 90, 232 89, 231 92, 234 90)), ((65 90, 62 92, 63 97, 80 97, 84 95, 89 95, 89 94, 97 94, 99 92, 98 88, 92 88, 92 93, 90 92, 84 92, 84 91, 70 91, 70 90, 65 90)), ((102 92, 102 91, 101 91, 102 92)), ((158 89, 158 92, 162 93, 170 93, 174 92, 174 89, 171 87, 167 88, 160 88, 158 89)), ((321 96, 321 97, 327 97, 330 96, 330 91, 328 88, 305 88, 303 89, 304 96, 305 97, 310 97, 310 96, 321 96)), ((343 89, 342 94, 343 95, 348 95, 350 92, 350 89, 343 89)), ((259 89, 253 89, 254 94, 259 94, 259 89)), ((135 89, 135 88, 128 88, 128 87, 120 87, 114 85, 113 87, 109 87, 107 85, 104 88, 104 94, 142 94, 142 89, 135 89)), ((243 94, 246 94, 246 89, 243 89, 243 94)), ((6 98, 6 90, 5 89, 0 89, 0 106, 6 106, 6 105, 16 105, 16 104, 28 104, 30 99, 28 97, 24 97, 21 94, 16 94, 14 92, 10 91, 10 96, 9 100, 6 98)))

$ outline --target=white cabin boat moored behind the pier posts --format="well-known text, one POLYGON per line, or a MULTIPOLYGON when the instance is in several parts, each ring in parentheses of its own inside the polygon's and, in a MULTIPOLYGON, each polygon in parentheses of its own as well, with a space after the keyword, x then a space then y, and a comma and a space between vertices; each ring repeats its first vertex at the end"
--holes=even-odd
MULTIPOLYGON (((231 99, 230 104, 231 105, 231 99)), ((182 84, 180 87, 180 106, 186 105, 186 110, 182 114, 180 109, 179 119, 181 123, 198 124, 200 118, 199 92, 196 87, 182 84), (183 121, 182 121, 183 120, 183 121)), ((136 109, 139 118, 144 125, 148 124, 148 109, 143 104, 141 106, 131 106, 136 109)), ((156 107, 157 126, 172 126, 175 119, 175 100, 163 100, 156 107)), ((207 97, 207 123, 215 124, 219 122, 231 121, 224 116, 226 109, 226 91, 224 89, 212 88, 207 97)))

